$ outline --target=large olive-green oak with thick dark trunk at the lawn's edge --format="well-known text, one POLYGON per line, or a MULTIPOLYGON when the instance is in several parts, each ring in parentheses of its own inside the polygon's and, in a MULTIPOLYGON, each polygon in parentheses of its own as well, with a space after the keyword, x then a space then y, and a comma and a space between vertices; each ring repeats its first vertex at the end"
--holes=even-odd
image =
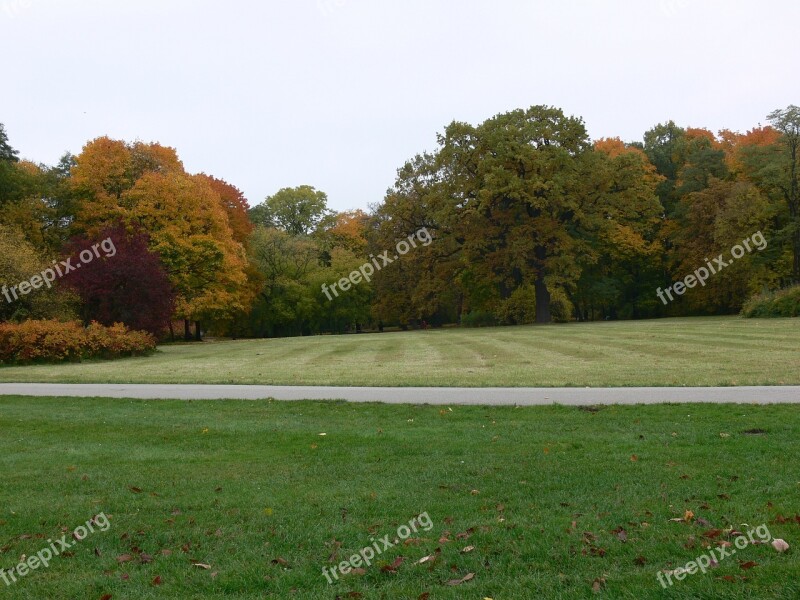
POLYGON ((577 279, 570 257, 582 250, 583 218, 573 194, 589 138, 581 119, 533 106, 478 127, 453 123, 440 137, 441 167, 455 185, 464 260, 500 300, 526 282, 536 292, 536 322, 548 323, 552 286, 577 279))

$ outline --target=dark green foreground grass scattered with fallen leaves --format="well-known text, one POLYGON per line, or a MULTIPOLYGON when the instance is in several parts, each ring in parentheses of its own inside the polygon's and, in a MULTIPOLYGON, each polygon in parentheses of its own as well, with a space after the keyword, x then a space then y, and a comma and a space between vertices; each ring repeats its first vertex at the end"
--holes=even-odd
POLYGON ((0 597, 800 597, 794 406, 5 397, 0 431, 0 567, 95 514, 111 523, 0 597), (422 512, 413 544, 327 583, 332 555, 422 512), (788 553, 751 545, 661 589, 658 571, 724 539, 704 532, 762 524, 788 553))

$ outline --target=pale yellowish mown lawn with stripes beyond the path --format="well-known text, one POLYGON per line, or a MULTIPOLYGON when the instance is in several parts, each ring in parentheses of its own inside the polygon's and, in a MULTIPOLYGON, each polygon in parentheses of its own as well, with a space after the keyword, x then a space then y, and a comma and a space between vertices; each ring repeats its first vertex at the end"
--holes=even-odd
POLYGON ((355 386, 800 384, 800 319, 663 319, 164 346, 0 381, 355 386))

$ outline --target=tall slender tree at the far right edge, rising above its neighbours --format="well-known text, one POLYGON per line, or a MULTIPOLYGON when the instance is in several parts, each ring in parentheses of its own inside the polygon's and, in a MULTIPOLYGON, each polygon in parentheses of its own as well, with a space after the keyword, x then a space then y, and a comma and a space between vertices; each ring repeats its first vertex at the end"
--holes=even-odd
POLYGON ((785 148, 781 165, 782 177, 776 185, 789 207, 788 227, 792 240, 792 279, 800 283, 800 107, 790 105, 771 112, 767 117, 772 126, 781 133, 781 144, 785 148))

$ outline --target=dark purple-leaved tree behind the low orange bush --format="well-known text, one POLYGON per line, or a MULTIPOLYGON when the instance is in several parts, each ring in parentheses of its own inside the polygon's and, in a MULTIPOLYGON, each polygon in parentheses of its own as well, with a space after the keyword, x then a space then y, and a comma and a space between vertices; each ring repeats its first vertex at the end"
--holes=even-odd
MULTIPOLYGON (((64 277, 83 303, 84 322, 124 323, 159 336, 169 327, 175 294, 159 257, 148 250, 148 236, 116 226, 102 231, 98 239, 112 241, 113 255, 104 253, 64 277)), ((66 251, 77 255, 96 241, 74 238, 66 251)))

